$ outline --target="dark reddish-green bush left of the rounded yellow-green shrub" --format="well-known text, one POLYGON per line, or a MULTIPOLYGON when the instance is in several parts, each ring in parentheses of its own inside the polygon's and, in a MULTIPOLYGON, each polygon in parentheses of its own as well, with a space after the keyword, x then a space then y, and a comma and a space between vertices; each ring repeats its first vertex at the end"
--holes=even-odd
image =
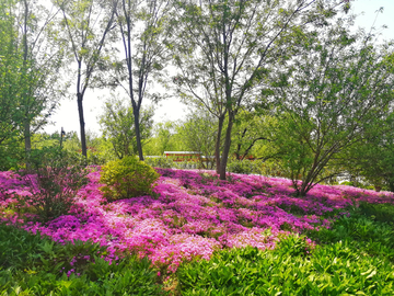
POLYGON ((42 221, 68 214, 77 192, 88 183, 84 159, 60 148, 44 148, 32 150, 30 163, 34 174, 21 173, 33 195, 16 196, 20 208, 33 206, 42 221))

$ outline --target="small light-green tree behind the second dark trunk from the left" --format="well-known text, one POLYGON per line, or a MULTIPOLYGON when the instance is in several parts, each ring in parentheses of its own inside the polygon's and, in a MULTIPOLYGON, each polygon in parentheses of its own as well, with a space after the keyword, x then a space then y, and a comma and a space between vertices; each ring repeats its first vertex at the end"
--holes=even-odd
MULTIPOLYGON (((153 110, 141 110, 139 117, 140 140, 151 136, 153 110)), ((121 159, 138 152, 135 117, 132 109, 124 106, 121 101, 106 102, 104 114, 100 117, 103 135, 113 144, 116 156, 121 159)))

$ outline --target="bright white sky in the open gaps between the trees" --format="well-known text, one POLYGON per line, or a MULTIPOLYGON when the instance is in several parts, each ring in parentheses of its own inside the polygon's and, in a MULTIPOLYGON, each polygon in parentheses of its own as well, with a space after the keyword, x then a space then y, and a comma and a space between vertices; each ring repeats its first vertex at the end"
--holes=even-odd
MULTIPOLYGON (((373 25, 382 33, 382 38, 394 38, 394 0, 354 0, 351 7, 351 12, 358 15, 355 27, 363 27, 369 31, 373 25), (383 8, 383 13, 379 13, 376 19, 376 11, 380 8, 383 8), (383 25, 386 25, 387 29, 381 30, 383 25)), ((109 94, 103 91, 86 90, 83 100, 85 130, 93 132, 96 135, 101 134, 97 116, 103 113, 102 107, 106 98, 109 98, 109 94)), ((146 103, 149 102, 142 102, 142 105, 146 103)), ((153 119, 155 123, 177 121, 184 118, 186 113, 187 106, 182 104, 178 99, 166 99, 155 105, 153 119)), ((63 99, 50 121, 53 124, 44 129, 46 133, 60 132, 62 127, 66 132, 76 130, 79 134, 77 99, 63 99)))

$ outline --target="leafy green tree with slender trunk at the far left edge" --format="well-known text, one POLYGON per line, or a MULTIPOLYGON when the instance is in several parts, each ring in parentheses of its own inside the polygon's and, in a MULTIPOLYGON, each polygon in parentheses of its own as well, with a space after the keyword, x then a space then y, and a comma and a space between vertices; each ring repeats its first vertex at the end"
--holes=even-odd
POLYGON ((5 134, 23 130, 28 168, 32 133, 47 123, 61 95, 55 70, 61 66, 62 43, 55 42, 53 31, 57 11, 30 0, 3 3, 1 113, 10 119, 5 134))

